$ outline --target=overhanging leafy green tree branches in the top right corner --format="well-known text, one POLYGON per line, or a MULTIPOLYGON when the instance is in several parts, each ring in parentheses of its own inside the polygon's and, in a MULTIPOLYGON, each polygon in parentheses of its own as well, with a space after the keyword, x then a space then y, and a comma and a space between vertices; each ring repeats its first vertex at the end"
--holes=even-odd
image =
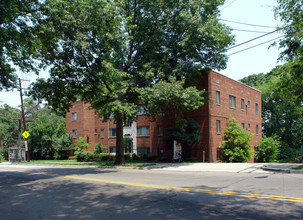
POLYGON ((283 22, 280 29, 285 37, 279 41, 279 47, 284 51, 280 59, 287 64, 283 74, 282 85, 285 91, 303 100, 303 1, 277 0, 276 17, 283 22))

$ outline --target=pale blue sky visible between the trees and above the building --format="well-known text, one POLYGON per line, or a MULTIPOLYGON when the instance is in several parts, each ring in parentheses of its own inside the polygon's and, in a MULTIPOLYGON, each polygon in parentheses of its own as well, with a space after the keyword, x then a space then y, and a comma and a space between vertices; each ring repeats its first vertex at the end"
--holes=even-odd
MULTIPOLYGON (((226 0, 225 4, 219 8, 221 10, 220 19, 222 19, 221 22, 234 29, 232 33, 235 35, 235 46, 256 37, 262 36, 265 33, 274 31, 274 28, 269 27, 276 27, 281 24, 278 20, 274 19, 273 8, 275 6, 275 3, 276 0, 226 0), (244 25, 235 22, 268 27, 265 28, 259 26, 244 25), (262 33, 255 33, 250 31, 258 31, 262 33)), ((275 66, 281 64, 277 63, 277 59, 281 51, 279 51, 276 47, 271 47, 269 49, 269 46, 274 42, 270 40, 278 38, 280 36, 282 36, 282 34, 268 34, 265 37, 260 37, 257 40, 228 50, 227 55, 229 55, 229 61, 227 63, 227 68, 225 70, 215 71, 234 80, 242 79, 243 77, 249 76, 251 74, 269 72, 275 66), (266 41, 270 42, 256 46, 266 41), (256 47, 247 49, 253 46, 256 47), (245 51, 233 54, 241 50, 245 51)), ((35 74, 22 73, 20 71, 18 71, 18 76, 21 79, 30 81, 23 81, 22 88, 27 88, 30 83, 34 82, 37 78, 35 74)), ((41 72, 40 74, 41 78, 47 78, 47 76, 48 74, 46 71, 41 72)), ((20 106, 20 92, 16 90, 13 92, 0 92, 0 105, 3 104, 8 104, 12 107, 20 106)))

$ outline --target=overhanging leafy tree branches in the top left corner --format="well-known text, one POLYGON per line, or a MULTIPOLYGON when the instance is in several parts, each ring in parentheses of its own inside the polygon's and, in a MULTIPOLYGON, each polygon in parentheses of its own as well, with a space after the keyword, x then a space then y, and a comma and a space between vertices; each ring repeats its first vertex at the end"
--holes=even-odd
POLYGON ((0 1, 0 91, 16 87, 15 66, 22 71, 37 70, 35 21, 40 15, 39 0, 0 1))

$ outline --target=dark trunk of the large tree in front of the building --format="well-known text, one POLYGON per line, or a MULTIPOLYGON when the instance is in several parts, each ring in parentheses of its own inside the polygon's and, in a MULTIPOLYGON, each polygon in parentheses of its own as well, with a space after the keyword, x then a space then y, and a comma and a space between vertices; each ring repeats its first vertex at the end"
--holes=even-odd
POLYGON ((117 114, 117 136, 116 136, 116 161, 115 164, 124 164, 124 149, 123 149, 123 113, 117 114))

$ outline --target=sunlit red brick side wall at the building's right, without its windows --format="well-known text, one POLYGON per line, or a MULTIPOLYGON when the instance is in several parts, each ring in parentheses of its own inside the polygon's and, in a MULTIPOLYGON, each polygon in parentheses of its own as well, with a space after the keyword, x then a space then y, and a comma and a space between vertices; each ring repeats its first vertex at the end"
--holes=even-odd
POLYGON ((209 160, 216 161, 217 148, 221 145, 224 130, 227 128, 228 115, 236 118, 241 125, 245 124, 245 129, 254 134, 251 144, 254 146, 262 138, 262 116, 261 116, 261 92, 250 88, 237 81, 229 79, 221 74, 210 72, 209 76, 209 116, 210 116, 210 155, 209 160), (220 92, 220 105, 216 104, 216 91, 220 92), (236 97, 236 108, 229 107, 229 96, 236 97), (244 110, 241 109, 241 99, 244 99, 244 110), (250 107, 248 107, 250 101, 250 107), (256 114, 255 104, 258 104, 258 114, 256 114), (221 135, 216 132, 216 121, 221 120, 221 135), (256 125, 259 126, 259 134, 256 135, 256 125))

